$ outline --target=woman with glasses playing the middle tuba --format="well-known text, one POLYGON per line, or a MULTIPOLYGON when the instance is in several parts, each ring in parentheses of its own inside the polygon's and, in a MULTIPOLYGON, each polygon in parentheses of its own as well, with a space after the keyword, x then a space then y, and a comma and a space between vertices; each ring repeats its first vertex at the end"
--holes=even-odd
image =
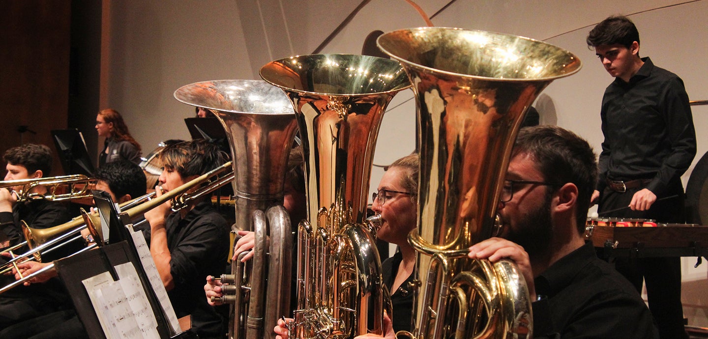
MULTIPOLYGON (((396 254, 382 263, 383 282, 392 291, 394 310, 392 319, 387 316, 384 321, 394 331, 411 331, 413 289, 410 283, 413 282, 416 250, 408 242, 408 234, 416 228, 418 163, 418 155, 411 154, 389 165, 372 200, 372 209, 382 217, 377 237, 398 246, 396 254)), ((287 338, 284 321, 279 320, 273 331, 276 338, 287 338)))

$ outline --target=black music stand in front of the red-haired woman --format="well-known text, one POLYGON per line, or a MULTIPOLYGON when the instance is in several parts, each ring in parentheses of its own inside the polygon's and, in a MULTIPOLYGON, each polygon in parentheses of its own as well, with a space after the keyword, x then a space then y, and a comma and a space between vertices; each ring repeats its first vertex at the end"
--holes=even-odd
POLYGON ((52 130, 52 139, 57 146, 65 174, 93 176, 93 162, 86 149, 84 136, 79 130, 52 130))

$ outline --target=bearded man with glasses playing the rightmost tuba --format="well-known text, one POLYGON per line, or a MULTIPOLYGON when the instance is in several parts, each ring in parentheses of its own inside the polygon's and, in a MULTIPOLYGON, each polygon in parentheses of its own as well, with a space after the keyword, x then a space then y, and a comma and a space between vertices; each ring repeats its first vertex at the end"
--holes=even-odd
POLYGON ((502 238, 476 243, 469 257, 517 263, 536 300, 534 338, 658 338, 636 289, 583 240, 595 158, 572 132, 523 128, 498 207, 502 238))

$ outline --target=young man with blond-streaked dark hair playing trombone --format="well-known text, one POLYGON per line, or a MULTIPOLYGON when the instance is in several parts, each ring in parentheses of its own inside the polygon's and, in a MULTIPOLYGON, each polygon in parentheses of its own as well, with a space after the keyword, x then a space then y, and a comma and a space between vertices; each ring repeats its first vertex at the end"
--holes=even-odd
MULTIPOLYGON (((195 139, 166 146, 159 155, 164 170, 158 196, 223 163, 215 144, 195 139)), ((150 253, 178 318, 192 316, 200 338, 223 338, 222 318, 204 298, 203 279, 224 271, 229 253, 229 225, 208 197, 171 212, 166 202, 145 213, 150 225, 150 253)))

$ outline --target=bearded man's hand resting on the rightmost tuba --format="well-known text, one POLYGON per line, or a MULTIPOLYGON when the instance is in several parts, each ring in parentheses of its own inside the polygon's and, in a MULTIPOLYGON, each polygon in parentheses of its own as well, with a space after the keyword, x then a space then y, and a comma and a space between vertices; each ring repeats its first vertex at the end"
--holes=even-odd
POLYGON ((492 263, 508 258, 513 260, 518 266, 521 274, 526 280, 531 300, 536 300, 536 288, 534 285, 534 275, 531 270, 529 255, 518 243, 501 238, 490 238, 485 241, 475 243, 469 248, 467 256, 472 259, 486 259, 492 263))

